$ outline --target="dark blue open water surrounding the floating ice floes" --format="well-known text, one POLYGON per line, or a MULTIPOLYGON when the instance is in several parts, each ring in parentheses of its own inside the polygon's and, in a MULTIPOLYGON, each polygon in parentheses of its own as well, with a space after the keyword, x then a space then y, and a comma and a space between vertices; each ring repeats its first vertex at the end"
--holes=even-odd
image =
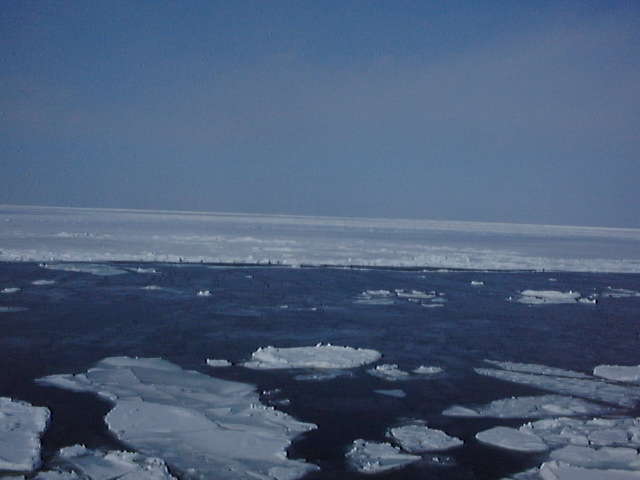
POLYGON ((463 448, 439 456, 453 465, 424 461, 377 478, 497 479, 537 465, 539 458, 481 446, 473 437, 497 424, 522 421, 455 419, 440 412, 452 404, 541 392, 475 375, 473 368, 483 366, 483 359, 583 372, 604 363, 640 363, 640 298, 536 307, 506 301, 525 288, 573 289, 583 295, 607 286, 640 290, 640 275, 144 266, 158 273, 102 277, 35 264, 0 264, 0 289, 22 288, 0 295, 0 305, 27 308, 0 313, 0 396, 52 410, 43 439, 45 457, 73 443, 124 446, 104 426, 107 403, 90 394, 37 386, 35 378, 85 371, 113 355, 158 356, 184 368, 253 383, 260 391, 280 389, 263 401, 287 398, 291 403, 278 408, 319 426, 289 450, 290 456, 321 466, 310 478, 364 478, 344 464, 351 442, 383 440, 390 426, 421 419, 465 440, 463 448), (550 276, 557 281, 549 282, 550 276), (38 279, 56 283, 31 284, 38 279), (473 287, 471 280, 485 285, 473 287), (142 289, 152 284, 163 289, 142 289), (443 308, 404 300, 393 305, 354 303, 363 290, 398 288, 437 290, 448 301, 443 308), (197 297, 201 289, 211 290, 212 296, 197 297), (205 365, 206 358, 244 361, 260 346, 318 342, 373 348, 383 353, 385 363, 404 370, 437 365, 445 374, 388 382, 361 368, 347 377, 304 382, 294 379, 298 371, 205 365), (395 388, 407 396, 374 393, 395 388))

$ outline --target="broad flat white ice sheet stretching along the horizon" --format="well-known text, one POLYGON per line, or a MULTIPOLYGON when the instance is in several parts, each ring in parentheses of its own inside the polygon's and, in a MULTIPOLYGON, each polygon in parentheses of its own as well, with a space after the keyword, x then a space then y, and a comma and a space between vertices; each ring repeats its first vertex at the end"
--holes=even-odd
POLYGON ((0 260, 640 272, 640 229, 0 206, 0 260))

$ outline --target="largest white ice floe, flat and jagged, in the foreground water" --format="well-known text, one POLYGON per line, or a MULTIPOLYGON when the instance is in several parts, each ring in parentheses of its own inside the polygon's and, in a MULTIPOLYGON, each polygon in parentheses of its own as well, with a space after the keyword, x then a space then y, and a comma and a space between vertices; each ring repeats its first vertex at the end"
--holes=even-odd
POLYGON ((285 452, 292 438, 315 425, 262 405, 252 385, 129 357, 38 383, 109 400, 105 421, 120 441, 188 478, 294 479, 317 469, 285 452))

